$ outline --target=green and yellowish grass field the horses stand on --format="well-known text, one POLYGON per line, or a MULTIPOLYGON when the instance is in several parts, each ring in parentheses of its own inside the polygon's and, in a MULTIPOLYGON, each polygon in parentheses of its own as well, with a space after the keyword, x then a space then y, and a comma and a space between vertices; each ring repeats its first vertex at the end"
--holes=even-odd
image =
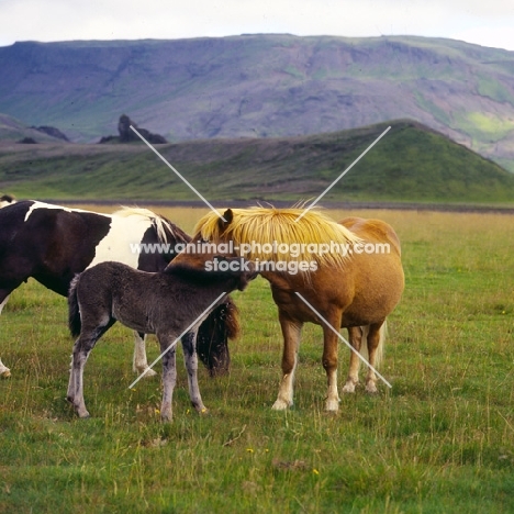
MULTIPOLYGON (((188 231, 203 213, 160 211, 188 231)), ((351 214, 390 222, 403 243, 406 289, 381 368, 391 390, 360 388, 324 413, 321 328, 308 325, 295 406, 271 411, 281 340, 259 278, 235 295, 231 375, 201 370, 209 415, 191 411, 180 364, 175 420, 161 424, 159 380, 128 390, 132 335, 115 326, 86 367, 92 417, 77 420, 64 401, 66 302, 29 282, 0 325, 12 370, 0 382, 0 513, 514 512, 514 219, 351 214)))

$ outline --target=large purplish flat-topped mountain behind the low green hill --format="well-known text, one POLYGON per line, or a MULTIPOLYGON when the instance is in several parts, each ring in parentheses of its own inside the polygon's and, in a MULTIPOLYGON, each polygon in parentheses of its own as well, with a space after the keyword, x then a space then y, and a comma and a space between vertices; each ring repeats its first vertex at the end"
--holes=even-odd
POLYGON ((25 42, 0 48, 0 112, 77 142, 123 112, 175 142, 409 118, 514 170, 513 52, 400 36, 25 42))

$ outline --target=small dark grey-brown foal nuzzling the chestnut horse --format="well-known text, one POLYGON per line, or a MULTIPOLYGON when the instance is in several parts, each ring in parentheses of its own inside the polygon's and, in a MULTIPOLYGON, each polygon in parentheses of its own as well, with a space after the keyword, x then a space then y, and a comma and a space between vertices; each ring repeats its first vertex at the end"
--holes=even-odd
POLYGON ((189 396, 198 412, 206 409, 198 386, 195 336, 201 320, 222 297, 243 291, 257 273, 249 264, 226 259, 227 271, 209 271, 171 264, 164 271, 146 272, 121 262, 101 262, 78 275, 68 295, 69 328, 74 345, 67 399, 79 417, 89 417, 83 401, 83 368, 97 340, 116 322, 146 334, 156 334, 163 358, 160 416, 171 421, 171 399, 177 380, 175 343, 181 337, 189 396), (232 270, 232 265, 236 269, 232 270))

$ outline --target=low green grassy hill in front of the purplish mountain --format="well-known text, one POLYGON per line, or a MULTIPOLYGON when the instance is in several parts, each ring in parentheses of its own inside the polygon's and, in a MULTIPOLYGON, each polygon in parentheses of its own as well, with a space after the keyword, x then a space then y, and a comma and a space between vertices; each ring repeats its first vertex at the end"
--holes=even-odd
MULTIPOLYGON (((514 175, 415 122, 390 125, 324 201, 514 204, 514 175)), ((209 200, 295 202, 321 194, 387 126, 157 148, 209 200)), ((198 200, 143 143, 3 143, 0 190, 40 199, 198 200)))

